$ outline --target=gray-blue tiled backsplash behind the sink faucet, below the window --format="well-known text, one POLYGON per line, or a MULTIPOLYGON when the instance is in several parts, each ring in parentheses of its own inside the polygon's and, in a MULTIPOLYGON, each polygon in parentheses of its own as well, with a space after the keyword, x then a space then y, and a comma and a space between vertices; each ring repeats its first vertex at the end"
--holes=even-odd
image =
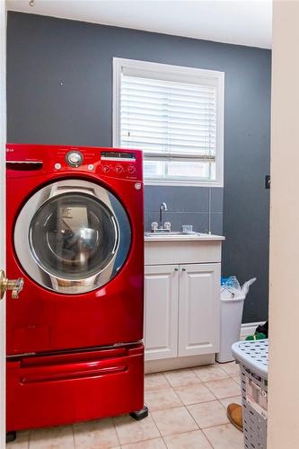
POLYGON ((159 221, 159 207, 165 202, 163 222, 170 221, 173 231, 181 225, 193 225, 193 230, 223 233, 224 189, 208 187, 145 186, 145 231, 159 221))

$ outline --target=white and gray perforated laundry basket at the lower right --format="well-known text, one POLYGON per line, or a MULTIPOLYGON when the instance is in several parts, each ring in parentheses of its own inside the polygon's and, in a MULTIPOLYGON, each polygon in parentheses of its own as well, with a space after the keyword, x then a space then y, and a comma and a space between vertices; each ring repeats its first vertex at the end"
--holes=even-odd
POLYGON ((268 339, 239 341, 232 352, 241 367, 244 446, 266 449, 268 339))

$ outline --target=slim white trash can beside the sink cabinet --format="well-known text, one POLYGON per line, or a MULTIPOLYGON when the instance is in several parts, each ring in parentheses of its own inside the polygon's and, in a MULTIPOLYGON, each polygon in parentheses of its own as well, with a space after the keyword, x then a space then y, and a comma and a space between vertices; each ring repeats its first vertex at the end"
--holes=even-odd
POLYGON ((232 345, 240 340, 244 299, 241 291, 222 288, 220 295, 220 349, 216 361, 232 362, 232 345))

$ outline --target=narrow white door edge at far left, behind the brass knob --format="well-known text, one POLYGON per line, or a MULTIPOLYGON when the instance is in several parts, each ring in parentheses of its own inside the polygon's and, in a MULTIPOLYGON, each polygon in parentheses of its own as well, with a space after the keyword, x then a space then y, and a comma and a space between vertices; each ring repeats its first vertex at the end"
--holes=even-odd
MULTIPOLYGON (((0 2, 0 269, 5 268, 6 9, 0 2)), ((5 446, 5 303, 0 301, 0 447, 5 446)))

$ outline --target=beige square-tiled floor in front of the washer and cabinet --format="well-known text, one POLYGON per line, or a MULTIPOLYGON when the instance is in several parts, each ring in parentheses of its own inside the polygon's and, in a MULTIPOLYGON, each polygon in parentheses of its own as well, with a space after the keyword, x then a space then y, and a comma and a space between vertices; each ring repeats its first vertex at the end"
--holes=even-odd
POLYGON ((148 418, 128 415, 74 426, 19 432, 7 449, 242 449, 242 433, 226 418, 240 403, 239 368, 233 363, 145 376, 148 418))

